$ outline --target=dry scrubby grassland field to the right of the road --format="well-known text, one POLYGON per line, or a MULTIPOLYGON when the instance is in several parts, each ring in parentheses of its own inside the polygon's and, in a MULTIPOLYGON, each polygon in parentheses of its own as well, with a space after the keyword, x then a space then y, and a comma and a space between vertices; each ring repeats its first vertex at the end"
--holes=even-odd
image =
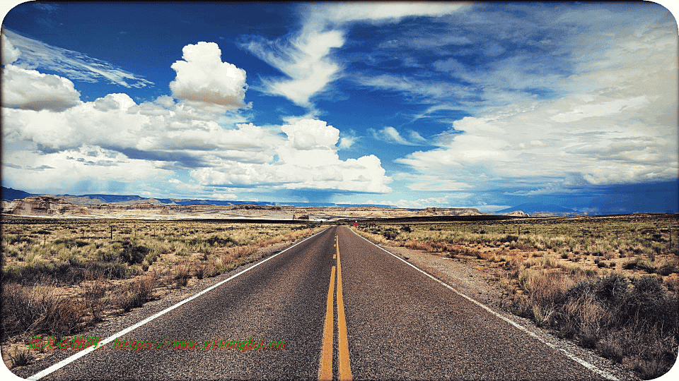
POLYGON ((626 216, 377 224, 375 243, 476 262, 506 308, 634 370, 663 375, 679 347, 679 222, 626 216), (670 236, 671 234, 671 236, 670 236))

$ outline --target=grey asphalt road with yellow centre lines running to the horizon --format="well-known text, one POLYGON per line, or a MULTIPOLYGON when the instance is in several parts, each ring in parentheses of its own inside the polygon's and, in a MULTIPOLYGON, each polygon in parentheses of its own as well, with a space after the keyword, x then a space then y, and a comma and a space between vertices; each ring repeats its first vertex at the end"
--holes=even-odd
MULTIPOLYGON (((112 341, 57 370, 33 368, 30 378, 601 378, 344 226, 298 243, 121 339, 151 348, 114 349, 112 341), (204 349, 214 339, 228 346, 250 338, 263 348, 204 349), (167 349, 172 339, 197 345, 167 349)), ((63 352, 61 358, 84 353, 63 352)))

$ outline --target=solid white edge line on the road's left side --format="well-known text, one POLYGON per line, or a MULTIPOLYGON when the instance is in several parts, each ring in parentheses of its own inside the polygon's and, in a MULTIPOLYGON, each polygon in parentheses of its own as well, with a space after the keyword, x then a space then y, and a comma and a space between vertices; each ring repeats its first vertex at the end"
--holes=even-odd
MULTIPOLYGON (((182 306, 182 304, 188 303, 188 302, 192 301, 193 299, 195 299, 195 298, 201 296, 202 294, 205 294, 205 293, 207 293, 207 292, 209 292, 209 291, 211 291, 211 290, 213 290, 213 289, 216 289, 217 287, 219 287, 219 286, 221 286, 222 284, 224 284, 224 283, 230 281, 231 279, 233 279, 233 278, 235 278, 235 277, 238 277, 238 275, 243 274, 244 272, 247 272, 247 271, 249 271, 249 270, 254 269, 255 267, 261 265, 262 263, 267 262, 267 260, 270 260, 270 259, 272 259, 272 258, 274 258, 274 257, 277 257, 277 255, 280 255, 280 254, 282 254, 282 253, 285 253, 287 250, 290 250, 291 248, 294 248, 295 246, 297 246, 297 245, 299 245, 300 243, 302 243, 302 242, 308 240, 309 238, 313 238, 313 237, 315 237, 315 236, 318 236, 318 234, 323 233, 323 231, 326 231, 327 229, 330 229, 330 226, 328 226, 327 228, 323 229, 322 231, 319 231, 318 233, 314 234, 314 235, 311 236, 311 237, 304 238, 302 241, 299 241, 298 243, 295 243, 293 246, 290 246, 289 248, 286 248, 285 250, 282 250, 280 253, 277 253, 277 254, 275 254, 275 255, 270 256, 269 258, 267 258, 267 259, 265 259, 265 260, 262 260, 262 262, 258 262, 256 265, 250 266, 250 267, 248 267, 247 269, 245 269, 245 270, 239 272, 238 274, 235 274, 235 275, 233 275, 233 276, 231 276, 231 277, 228 277, 228 279, 224 279, 223 281, 219 282, 218 284, 214 284, 213 286, 209 286, 207 289, 204 289, 203 291, 200 291, 198 294, 195 294, 195 295, 193 295, 193 296, 190 296, 190 297, 188 297, 188 298, 185 298, 183 301, 180 301, 179 303, 175 304, 174 306, 170 306, 170 307, 168 307, 168 308, 162 310, 161 312, 156 313, 155 315, 151 315, 151 316, 149 316, 149 317, 146 317, 146 319, 141 320, 141 322, 137 322, 137 324, 135 324, 135 325, 131 325, 131 326, 129 326, 129 327, 123 329, 123 330, 120 331, 120 332, 117 332, 117 333, 115 333, 115 334, 112 334, 111 336, 107 337, 106 339, 103 339, 103 341, 100 342, 100 345, 103 346, 103 345, 105 345, 105 344, 108 344, 108 343, 110 343, 111 341, 113 341, 113 340, 115 340, 115 339, 117 339, 117 338, 123 336, 124 334, 127 334, 128 332, 130 332, 130 331, 132 331, 132 330, 134 330, 134 329, 137 329, 137 328, 141 327, 142 325, 145 325, 147 322, 150 322, 150 321, 152 321, 152 320, 155 320, 157 317, 160 317, 161 315, 165 315, 166 313, 170 312, 171 310, 174 310, 175 308, 178 308, 179 306, 182 306)), ((102 348, 101 346, 99 347, 99 349, 102 348)), ((40 380, 42 377, 45 377, 46 375, 50 375, 51 373, 54 373, 55 371, 57 371, 57 370, 63 368, 64 366, 69 365, 70 363, 72 363, 72 362, 78 360, 79 358, 81 358, 81 357, 83 357, 83 356, 86 356, 88 353, 90 353, 90 352, 92 352, 92 351, 95 351, 95 347, 93 347, 93 346, 90 346, 90 347, 88 347, 87 349, 83 349, 83 351, 79 351, 78 353, 74 354, 73 356, 70 356, 70 357, 68 357, 68 358, 64 358, 64 360, 59 361, 58 363, 56 363, 56 364, 50 366, 49 368, 46 368, 46 369, 44 369, 44 370, 41 370, 41 371, 38 372, 38 373, 35 373, 35 375, 32 375, 32 376, 28 377, 27 380, 33 380, 33 381, 35 381, 35 380, 40 380)))

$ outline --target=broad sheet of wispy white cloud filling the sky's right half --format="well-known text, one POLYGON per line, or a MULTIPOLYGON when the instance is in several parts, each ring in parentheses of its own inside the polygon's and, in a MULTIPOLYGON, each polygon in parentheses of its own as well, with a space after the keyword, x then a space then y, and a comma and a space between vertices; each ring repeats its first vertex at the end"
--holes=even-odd
MULTIPOLYGON (((436 135, 438 148, 395 160, 411 166, 412 177, 440 179, 440 187, 409 188, 513 183, 533 195, 545 183, 670 181, 678 170, 676 23, 666 11, 637 5, 475 8, 439 20, 445 35, 471 44, 428 44, 443 35, 439 25, 414 25, 361 47, 366 54, 353 52, 369 57, 351 80, 421 105, 412 121, 450 121, 436 135), (416 33, 425 37, 412 68, 413 48, 401 49, 416 33)), ((373 132, 407 141, 397 131, 373 132)))

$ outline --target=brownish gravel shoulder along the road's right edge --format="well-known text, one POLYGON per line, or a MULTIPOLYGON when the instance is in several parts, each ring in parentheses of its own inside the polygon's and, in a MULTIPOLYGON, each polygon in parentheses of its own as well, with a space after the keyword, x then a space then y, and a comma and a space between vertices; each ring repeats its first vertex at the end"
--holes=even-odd
POLYGON ((381 246, 390 253, 407 260, 420 270, 440 279, 453 289, 469 296, 477 302, 491 308, 499 315, 516 322, 528 331, 536 334, 542 341, 551 344, 556 349, 562 349, 571 353, 600 370, 613 375, 618 380, 639 380, 629 370, 622 368, 606 358, 598 356, 594 351, 578 346, 574 341, 559 339, 548 329, 542 329, 526 318, 518 317, 502 309, 504 305, 504 292, 494 284, 496 277, 489 269, 465 260, 446 258, 434 253, 425 253, 420 250, 412 250, 404 247, 381 246))

